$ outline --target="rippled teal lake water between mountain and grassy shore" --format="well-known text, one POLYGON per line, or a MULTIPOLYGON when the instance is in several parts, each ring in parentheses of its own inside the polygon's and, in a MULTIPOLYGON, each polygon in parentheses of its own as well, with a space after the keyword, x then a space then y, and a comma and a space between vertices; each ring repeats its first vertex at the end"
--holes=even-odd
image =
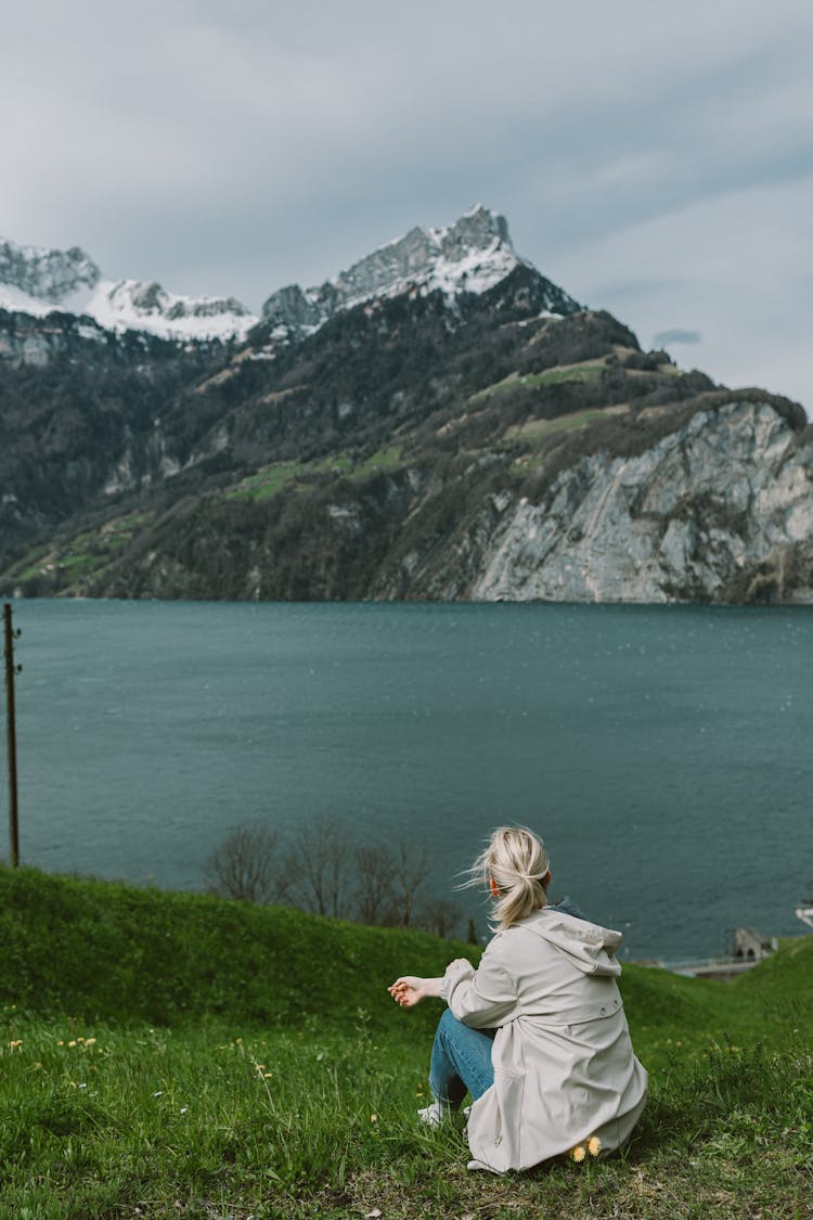
POLYGON ((26 863, 197 889, 229 827, 330 815, 425 845, 451 897, 520 821, 630 958, 803 931, 809 610, 20 601, 15 625, 26 863))

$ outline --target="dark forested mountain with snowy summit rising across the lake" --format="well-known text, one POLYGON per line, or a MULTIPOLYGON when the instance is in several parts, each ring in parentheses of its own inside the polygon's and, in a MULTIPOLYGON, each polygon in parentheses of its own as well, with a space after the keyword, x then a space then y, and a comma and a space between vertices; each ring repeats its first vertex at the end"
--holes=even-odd
POLYGON ((483 207, 227 343, 106 328, 63 307, 82 251, 15 257, 62 307, 0 312, 0 592, 813 600, 803 409, 642 351, 483 207))

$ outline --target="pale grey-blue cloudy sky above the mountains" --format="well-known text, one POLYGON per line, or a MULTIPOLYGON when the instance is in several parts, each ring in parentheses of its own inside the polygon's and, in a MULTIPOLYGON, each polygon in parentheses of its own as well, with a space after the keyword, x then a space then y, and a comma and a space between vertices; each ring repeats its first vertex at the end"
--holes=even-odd
POLYGON ((4 0, 0 234, 254 309, 474 203, 813 416, 809 0, 4 0))

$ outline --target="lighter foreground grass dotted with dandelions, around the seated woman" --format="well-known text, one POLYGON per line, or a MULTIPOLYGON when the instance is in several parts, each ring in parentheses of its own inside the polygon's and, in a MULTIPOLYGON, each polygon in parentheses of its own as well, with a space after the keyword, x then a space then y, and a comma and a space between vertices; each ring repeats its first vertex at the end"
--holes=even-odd
POLYGON ((625 1158, 492 1179, 458 1124, 416 1125, 427 1048, 397 1017, 384 1038, 363 1014, 285 1033, 5 1011, 0 1214, 809 1214, 809 1055, 712 1049, 653 1075, 625 1158))

